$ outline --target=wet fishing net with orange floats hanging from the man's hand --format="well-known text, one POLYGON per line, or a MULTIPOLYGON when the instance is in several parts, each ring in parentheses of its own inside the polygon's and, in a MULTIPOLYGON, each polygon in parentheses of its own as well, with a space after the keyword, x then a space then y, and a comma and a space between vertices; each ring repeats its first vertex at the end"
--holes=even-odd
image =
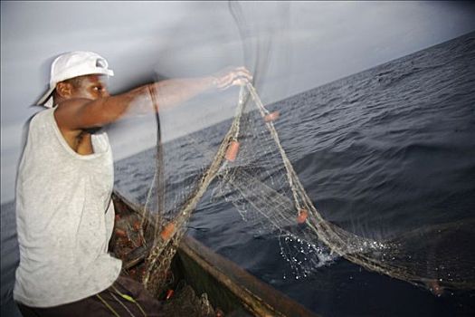
MULTIPOLYGON (((163 210, 153 215, 148 212, 148 217, 156 218, 153 246, 147 256, 143 278, 150 291, 157 293, 166 283, 164 272, 185 234, 186 224, 214 181, 214 197, 233 203, 242 218, 252 226, 290 237, 289 244, 298 241, 313 249, 313 255, 318 255, 318 259, 308 259, 310 256, 306 255, 310 264, 321 262, 319 257, 328 250, 330 254, 342 256, 367 270, 418 286, 430 288, 436 283, 441 287, 475 288, 472 259, 461 259, 452 264, 453 261, 447 258, 449 254, 442 253, 432 256, 435 260, 428 264, 422 256, 419 258, 423 260, 416 260, 417 254, 423 251, 408 244, 410 240, 400 237, 377 241, 355 235, 325 220, 309 198, 280 143, 274 126, 278 117, 278 113, 265 108, 251 83, 242 86, 229 130, 208 168, 204 168, 201 176, 196 178, 195 185, 189 187, 187 194, 182 193, 176 198, 171 220, 162 215, 163 210), (246 108, 248 104, 252 108, 246 108), (447 267, 448 264, 452 265, 447 267)), ((206 149, 200 142, 192 143, 197 148, 206 149)), ((165 194, 159 195, 159 199, 165 199, 165 194)), ((147 202, 152 197, 149 195, 147 202)), ((290 245, 282 248, 292 249, 290 245)), ((297 256, 290 255, 289 258, 297 256)))

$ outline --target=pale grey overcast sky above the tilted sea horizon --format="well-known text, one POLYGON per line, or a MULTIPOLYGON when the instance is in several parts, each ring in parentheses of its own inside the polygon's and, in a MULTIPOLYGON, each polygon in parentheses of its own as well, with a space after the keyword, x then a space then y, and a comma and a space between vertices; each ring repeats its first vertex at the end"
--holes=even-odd
MULTIPOLYGON (((108 83, 112 92, 157 76, 199 76, 227 65, 252 69, 260 53, 268 62, 262 98, 271 102, 475 30, 473 5, 454 2, 249 2, 240 8, 234 20, 226 2, 3 1, 2 203, 14 198, 22 129, 39 110, 30 106, 46 89, 59 53, 106 57, 116 73, 108 83)), ((213 123, 230 113, 208 107, 171 116, 193 130, 200 126, 188 124, 192 119, 213 123)), ((124 135, 111 133, 116 159, 137 141, 124 135)))

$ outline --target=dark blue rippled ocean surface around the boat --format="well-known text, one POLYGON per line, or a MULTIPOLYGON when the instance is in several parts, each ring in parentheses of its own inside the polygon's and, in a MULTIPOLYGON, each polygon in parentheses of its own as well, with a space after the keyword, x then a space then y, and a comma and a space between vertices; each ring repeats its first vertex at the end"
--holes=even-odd
MULTIPOLYGON (((275 127, 309 197, 338 226, 397 235, 475 219, 475 33, 268 107, 280 110, 275 127)), ((210 129, 228 128, 223 122, 210 129)), ((117 162, 120 192, 144 199, 153 177, 149 158, 141 153, 117 162)), ((180 159, 193 158, 176 164, 180 159)), ((276 235, 249 230, 231 204, 209 194, 188 226, 188 235, 323 316, 475 315, 474 291, 437 296, 341 257, 296 275, 276 235)), ((14 315, 12 228, 10 203, 2 205, 2 316, 14 315)), ((452 245, 451 252, 473 255, 467 245, 452 245)))

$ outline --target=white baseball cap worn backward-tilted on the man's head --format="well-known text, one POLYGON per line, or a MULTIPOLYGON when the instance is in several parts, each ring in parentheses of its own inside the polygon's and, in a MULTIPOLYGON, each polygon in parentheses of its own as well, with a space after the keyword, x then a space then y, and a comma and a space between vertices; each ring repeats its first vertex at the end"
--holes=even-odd
POLYGON ((50 88, 36 104, 52 108, 52 91, 56 89, 58 82, 90 74, 114 76, 114 72, 109 70, 108 66, 106 59, 97 53, 82 51, 63 53, 52 62, 50 88))

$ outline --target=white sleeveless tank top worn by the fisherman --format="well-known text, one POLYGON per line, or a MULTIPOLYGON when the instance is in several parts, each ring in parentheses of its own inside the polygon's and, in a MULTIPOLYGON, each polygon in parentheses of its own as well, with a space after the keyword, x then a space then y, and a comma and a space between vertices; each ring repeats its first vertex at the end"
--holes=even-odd
POLYGON ((16 181, 20 265, 14 300, 33 307, 99 293, 121 269, 108 254, 114 176, 107 134, 92 135, 94 153, 80 155, 63 139, 54 110, 31 120, 16 181))

